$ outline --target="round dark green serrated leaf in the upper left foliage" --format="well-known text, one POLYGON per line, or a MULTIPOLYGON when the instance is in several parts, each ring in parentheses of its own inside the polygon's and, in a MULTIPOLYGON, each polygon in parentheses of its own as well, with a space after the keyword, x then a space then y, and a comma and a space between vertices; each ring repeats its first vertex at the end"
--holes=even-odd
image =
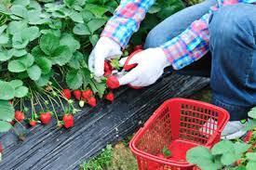
POLYGON ((56 51, 56 49, 59 47, 60 45, 60 38, 53 35, 53 34, 44 34, 41 39, 40 39, 40 44, 39 46, 41 47, 41 49, 47 54, 50 55, 51 53, 53 53, 54 51, 56 51))

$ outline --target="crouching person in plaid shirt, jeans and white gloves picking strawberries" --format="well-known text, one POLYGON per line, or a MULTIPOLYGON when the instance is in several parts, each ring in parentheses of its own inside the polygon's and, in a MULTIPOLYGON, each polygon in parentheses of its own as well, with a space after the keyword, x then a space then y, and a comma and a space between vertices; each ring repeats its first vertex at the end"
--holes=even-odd
MULTIPOLYGON (((104 74, 104 60, 122 54, 155 0, 123 0, 107 22, 88 59, 91 72, 104 74)), ((129 60, 135 69, 120 85, 152 85, 171 71, 210 77, 212 103, 229 111, 222 138, 243 136, 256 104, 256 0, 207 0, 168 17, 147 36, 144 50, 129 60)))

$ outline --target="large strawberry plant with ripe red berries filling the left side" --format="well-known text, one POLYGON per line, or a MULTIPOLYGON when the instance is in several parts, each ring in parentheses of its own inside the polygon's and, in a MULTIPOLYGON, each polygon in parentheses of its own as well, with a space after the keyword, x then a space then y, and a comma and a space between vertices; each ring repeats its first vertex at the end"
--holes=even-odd
MULTIPOLYGON (((54 117, 60 126, 62 115, 56 107, 71 114, 78 111, 72 94, 81 107, 96 107, 98 98, 114 100, 107 88, 116 81, 106 85, 105 79, 96 80, 88 70, 88 55, 119 4, 120 0, 1 1, 0 132, 20 124, 15 111, 24 114, 22 124, 49 124, 54 117), (46 116, 47 112, 51 114, 46 116)), ((182 7, 181 1, 157 0, 136 39, 143 41, 157 22, 182 7)), ((118 60, 107 61, 105 76, 112 77, 119 69, 118 60)))

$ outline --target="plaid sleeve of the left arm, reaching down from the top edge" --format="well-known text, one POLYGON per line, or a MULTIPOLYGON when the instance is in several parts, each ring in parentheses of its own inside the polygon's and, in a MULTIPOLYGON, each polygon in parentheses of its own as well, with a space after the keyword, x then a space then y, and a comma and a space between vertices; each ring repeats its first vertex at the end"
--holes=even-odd
POLYGON ((101 36, 107 36, 125 47, 132 33, 138 31, 141 20, 155 0, 122 0, 115 15, 106 24, 101 36))

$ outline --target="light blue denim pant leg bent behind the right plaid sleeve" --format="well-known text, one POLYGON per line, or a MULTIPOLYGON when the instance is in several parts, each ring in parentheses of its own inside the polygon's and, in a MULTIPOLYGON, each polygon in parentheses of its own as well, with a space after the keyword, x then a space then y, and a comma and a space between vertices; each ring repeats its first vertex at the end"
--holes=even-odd
MULTIPOLYGON (((144 48, 161 46, 168 40, 182 33, 195 20, 200 19, 209 12, 209 7, 216 4, 216 0, 206 0, 203 3, 185 9, 173 14, 168 19, 159 23, 147 36, 144 48)), ((210 53, 202 59, 197 60, 191 65, 180 71, 174 71, 182 74, 209 76, 210 74, 210 53)))

